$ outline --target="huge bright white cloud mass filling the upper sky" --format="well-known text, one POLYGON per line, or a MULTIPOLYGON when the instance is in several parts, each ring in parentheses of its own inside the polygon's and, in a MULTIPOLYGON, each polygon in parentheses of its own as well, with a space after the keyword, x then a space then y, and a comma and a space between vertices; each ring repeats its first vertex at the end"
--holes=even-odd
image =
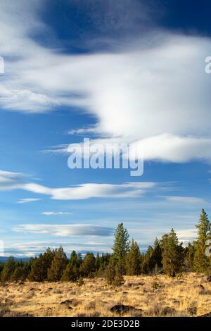
POLYGON ((33 113, 77 106, 95 115, 97 132, 139 144, 146 160, 211 160, 210 38, 159 30, 130 49, 64 55, 30 38, 30 29, 48 32, 39 6, 1 1, 1 56, 8 57, 1 108, 33 113))

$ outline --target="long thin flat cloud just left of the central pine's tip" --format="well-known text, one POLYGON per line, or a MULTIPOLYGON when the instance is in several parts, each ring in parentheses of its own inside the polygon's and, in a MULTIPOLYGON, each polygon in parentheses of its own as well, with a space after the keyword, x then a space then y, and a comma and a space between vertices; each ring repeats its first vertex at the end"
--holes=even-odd
POLYGON ((56 237, 75 237, 75 236, 110 236, 113 235, 113 228, 102 227, 91 224, 23 224, 17 225, 12 229, 15 232, 27 232, 37 234, 48 234, 56 237))

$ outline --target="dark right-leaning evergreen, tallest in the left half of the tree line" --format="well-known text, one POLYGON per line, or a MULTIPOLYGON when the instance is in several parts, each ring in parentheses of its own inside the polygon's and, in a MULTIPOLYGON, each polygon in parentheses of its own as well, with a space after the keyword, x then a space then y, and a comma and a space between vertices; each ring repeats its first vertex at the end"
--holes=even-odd
POLYGON ((48 270, 48 280, 51 282, 57 282, 61 279, 63 272, 68 264, 68 258, 63 251, 62 246, 56 250, 55 256, 51 263, 51 268, 48 270))

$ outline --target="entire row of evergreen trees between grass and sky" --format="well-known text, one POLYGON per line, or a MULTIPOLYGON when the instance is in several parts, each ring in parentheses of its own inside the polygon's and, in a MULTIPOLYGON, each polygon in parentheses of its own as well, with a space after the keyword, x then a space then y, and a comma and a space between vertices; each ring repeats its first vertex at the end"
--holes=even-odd
MULTIPOLYGON (((146 253, 141 253, 139 244, 132 239, 123 223, 117 226, 113 254, 87 253, 84 258, 72 251, 68 258, 60 246, 46 249, 44 254, 17 261, 12 256, 0 263, 1 282, 25 281, 70 281, 83 284, 85 277, 105 277, 108 284, 119 286, 124 275, 166 273, 171 277, 184 272, 211 275, 211 257, 207 240, 211 239, 211 225, 204 209, 200 215, 196 241, 184 247, 179 243, 174 229, 161 239, 156 238, 146 253)), ((211 243, 211 242, 210 242, 211 243)))

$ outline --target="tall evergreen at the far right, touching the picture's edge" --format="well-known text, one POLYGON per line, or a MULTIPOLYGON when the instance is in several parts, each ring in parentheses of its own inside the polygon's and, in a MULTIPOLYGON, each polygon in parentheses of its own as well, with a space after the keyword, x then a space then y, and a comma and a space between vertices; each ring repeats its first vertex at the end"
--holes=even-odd
POLYGON ((206 241, 207 239, 211 239, 210 233, 210 221, 208 220, 207 213, 205 210, 202 210, 200 214, 200 220, 198 225, 196 225, 198 229, 198 238, 196 241, 196 252, 194 255, 193 268, 198 273, 207 273, 211 272, 211 261, 208 256, 205 255, 206 250, 206 241))

